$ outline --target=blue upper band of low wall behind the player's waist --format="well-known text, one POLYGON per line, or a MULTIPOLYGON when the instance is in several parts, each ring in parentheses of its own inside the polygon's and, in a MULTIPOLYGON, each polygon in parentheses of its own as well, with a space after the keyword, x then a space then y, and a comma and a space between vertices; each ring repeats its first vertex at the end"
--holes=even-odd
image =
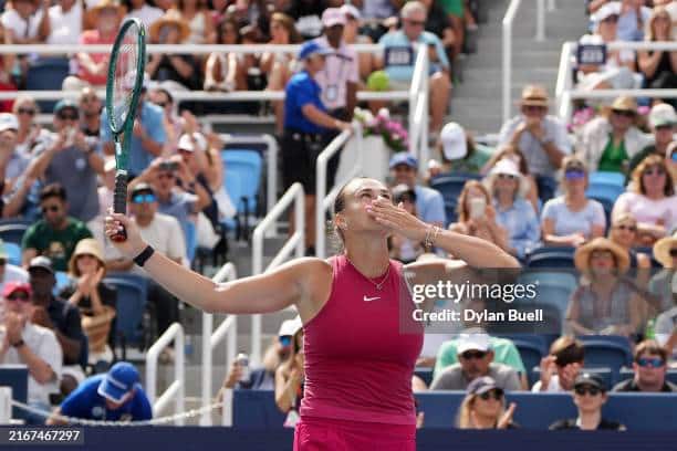
MULTIPOLYGON (((418 409, 425 412, 425 428, 451 428, 465 396, 464 391, 417 394, 418 409)), ((569 394, 512 391, 507 400, 517 403, 514 420, 523 429, 545 430, 559 419, 576 417, 569 394)), ((671 394, 610 394, 603 415, 633 431, 674 431, 677 424, 676 401, 677 396, 671 394)), ((235 390, 233 427, 249 430, 282 428, 284 418, 285 415, 275 406, 272 390, 235 390)))

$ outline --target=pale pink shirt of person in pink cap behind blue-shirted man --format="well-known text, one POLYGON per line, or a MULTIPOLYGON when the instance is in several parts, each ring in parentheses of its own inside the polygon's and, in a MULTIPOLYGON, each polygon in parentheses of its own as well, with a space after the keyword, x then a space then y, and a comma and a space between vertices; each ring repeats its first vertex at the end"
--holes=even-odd
POLYGON ((315 42, 336 52, 326 55, 324 70, 315 75, 315 81, 322 88, 322 103, 330 111, 343 108, 346 106, 346 83, 360 82, 357 53, 343 42, 338 49, 332 48, 325 36, 317 38, 315 42))

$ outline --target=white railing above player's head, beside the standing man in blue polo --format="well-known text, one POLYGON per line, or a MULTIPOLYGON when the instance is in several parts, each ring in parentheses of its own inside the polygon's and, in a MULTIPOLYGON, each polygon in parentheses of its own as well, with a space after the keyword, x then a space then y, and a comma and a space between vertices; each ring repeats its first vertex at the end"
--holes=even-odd
POLYGON ((353 130, 344 130, 341 135, 336 136, 329 146, 325 147, 324 150, 317 156, 317 162, 315 164, 315 255, 320 259, 324 259, 326 256, 326 233, 325 233, 325 222, 324 214, 326 211, 331 211, 332 203, 338 193, 341 187, 347 182, 351 178, 357 176, 362 170, 362 161, 364 158, 364 148, 363 148, 363 134, 362 126, 360 123, 353 123, 353 130), (336 155, 341 150, 341 148, 345 145, 345 143, 354 136, 356 139, 355 146, 357 148, 357 159, 354 161, 351 170, 347 171, 347 175, 344 180, 340 180, 336 182, 334 187, 331 188, 329 195, 326 193, 326 168, 330 159, 336 155))

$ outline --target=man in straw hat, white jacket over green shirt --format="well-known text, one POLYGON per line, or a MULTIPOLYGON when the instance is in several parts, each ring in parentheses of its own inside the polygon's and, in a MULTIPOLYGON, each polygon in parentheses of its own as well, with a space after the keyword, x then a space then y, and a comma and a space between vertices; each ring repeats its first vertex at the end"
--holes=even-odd
POLYGON ((629 160, 649 143, 635 125, 637 102, 621 96, 611 111, 585 124, 576 149, 591 171, 625 172, 629 160))

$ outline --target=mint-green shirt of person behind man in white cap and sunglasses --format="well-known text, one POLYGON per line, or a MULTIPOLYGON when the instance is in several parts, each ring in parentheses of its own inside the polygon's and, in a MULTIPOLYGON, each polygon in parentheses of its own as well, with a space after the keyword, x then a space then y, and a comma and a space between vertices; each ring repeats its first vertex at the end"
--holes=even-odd
POLYGON ((493 354, 493 363, 503 364, 520 374, 520 382, 522 384, 522 388, 528 387, 527 380, 527 368, 524 368, 524 364, 522 363, 522 358, 520 357, 520 353, 514 346, 514 344, 508 338, 499 338, 492 337, 485 332, 481 331, 472 331, 468 329, 467 333, 460 334, 458 338, 450 339, 449 342, 444 343, 439 350, 437 352, 437 360, 435 363, 435 371, 433 374, 433 379, 437 378, 441 371, 454 364, 458 363, 459 353, 459 344, 468 340, 470 335, 475 335, 475 342, 488 342, 489 353, 493 354))

